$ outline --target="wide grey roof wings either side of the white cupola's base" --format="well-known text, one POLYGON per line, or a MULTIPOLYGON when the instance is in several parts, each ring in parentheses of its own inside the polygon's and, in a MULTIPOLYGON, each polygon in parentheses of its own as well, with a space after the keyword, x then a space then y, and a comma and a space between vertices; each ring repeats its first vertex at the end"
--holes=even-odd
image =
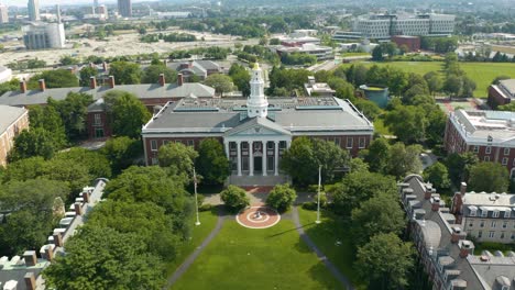
MULTIPOLYGON (((373 124, 349 101, 337 98, 269 98, 267 122, 292 134, 359 131, 373 134, 373 124)), ((168 103, 143 129, 145 133, 217 133, 243 124, 246 99, 185 98, 168 103)))

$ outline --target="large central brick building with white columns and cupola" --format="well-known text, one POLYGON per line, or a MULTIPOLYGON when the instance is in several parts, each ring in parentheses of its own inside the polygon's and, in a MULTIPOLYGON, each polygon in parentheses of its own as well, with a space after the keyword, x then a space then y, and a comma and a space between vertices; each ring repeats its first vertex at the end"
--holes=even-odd
POLYGON ((184 98, 168 102, 142 130, 147 165, 167 142, 198 146, 219 140, 234 176, 277 176, 278 161, 299 136, 335 142, 357 156, 372 141, 373 124, 351 102, 330 98, 266 98, 262 70, 251 76, 248 99, 184 98))

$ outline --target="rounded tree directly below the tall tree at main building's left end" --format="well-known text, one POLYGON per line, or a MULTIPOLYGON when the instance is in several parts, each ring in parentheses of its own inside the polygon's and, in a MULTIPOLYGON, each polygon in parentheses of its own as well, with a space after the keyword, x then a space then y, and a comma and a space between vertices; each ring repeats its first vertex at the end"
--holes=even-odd
POLYGON ((128 136, 109 138, 101 148, 111 165, 114 175, 132 165, 135 157, 143 153, 143 146, 140 140, 132 140, 128 136))

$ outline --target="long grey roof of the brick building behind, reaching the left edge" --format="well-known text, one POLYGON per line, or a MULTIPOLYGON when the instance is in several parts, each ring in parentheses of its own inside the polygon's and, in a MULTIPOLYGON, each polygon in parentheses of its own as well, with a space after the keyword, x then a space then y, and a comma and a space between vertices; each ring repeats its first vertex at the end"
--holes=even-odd
POLYGON ((46 103, 48 98, 55 100, 64 100, 69 92, 85 92, 98 100, 105 93, 112 90, 122 90, 134 93, 140 99, 156 99, 156 98, 183 98, 190 93, 197 97, 212 97, 215 89, 198 82, 186 82, 183 86, 176 83, 166 83, 162 87, 158 83, 141 83, 141 85, 119 85, 114 88, 97 87, 91 89, 89 87, 75 87, 75 88, 58 88, 42 90, 29 90, 25 93, 21 91, 8 91, 0 97, 0 104, 7 105, 30 105, 46 103))

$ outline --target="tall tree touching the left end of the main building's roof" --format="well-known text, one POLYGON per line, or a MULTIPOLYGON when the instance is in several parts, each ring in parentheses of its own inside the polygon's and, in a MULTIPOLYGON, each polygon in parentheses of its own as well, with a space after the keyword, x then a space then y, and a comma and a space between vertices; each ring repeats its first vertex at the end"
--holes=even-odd
POLYGON ((145 105, 134 94, 125 91, 109 91, 103 99, 113 134, 139 138, 143 124, 152 116, 145 105))

